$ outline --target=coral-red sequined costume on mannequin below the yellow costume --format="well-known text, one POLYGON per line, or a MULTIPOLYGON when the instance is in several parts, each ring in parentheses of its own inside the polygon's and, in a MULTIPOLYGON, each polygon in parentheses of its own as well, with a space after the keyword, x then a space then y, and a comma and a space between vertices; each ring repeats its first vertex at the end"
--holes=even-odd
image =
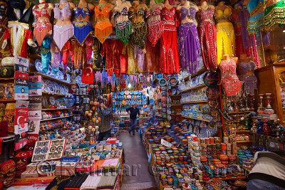
POLYGON ((229 61, 221 60, 219 64, 222 73, 221 84, 227 96, 237 95, 242 88, 242 81, 237 78, 236 68, 237 65, 233 58, 229 61))

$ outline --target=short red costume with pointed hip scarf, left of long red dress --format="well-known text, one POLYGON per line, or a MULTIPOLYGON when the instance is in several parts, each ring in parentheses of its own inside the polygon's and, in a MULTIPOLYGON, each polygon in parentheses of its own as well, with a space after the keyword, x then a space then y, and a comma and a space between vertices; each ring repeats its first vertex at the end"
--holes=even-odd
POLYGON ((154 47, 165 29, 165 23, 160 19, 160 7, 157 7, 155 11, 152 12, 147 11, 145 19, 147 19, 147 40, 150 41, 152 47, 154 47), (157 19, 153 20, 152 17, 157 17, 157 19))

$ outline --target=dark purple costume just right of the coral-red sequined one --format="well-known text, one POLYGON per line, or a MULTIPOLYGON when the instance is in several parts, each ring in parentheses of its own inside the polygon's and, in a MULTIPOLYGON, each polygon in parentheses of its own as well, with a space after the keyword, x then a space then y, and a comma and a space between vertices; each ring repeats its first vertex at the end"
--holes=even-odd
POLYGON ((239 62, 237 65, 239 80, 244 82, 244 92, 252 95, 254 90, 257 90, 257 77, 254 75, 254 68, 255 63, 252 60, 249 63, 239 62))

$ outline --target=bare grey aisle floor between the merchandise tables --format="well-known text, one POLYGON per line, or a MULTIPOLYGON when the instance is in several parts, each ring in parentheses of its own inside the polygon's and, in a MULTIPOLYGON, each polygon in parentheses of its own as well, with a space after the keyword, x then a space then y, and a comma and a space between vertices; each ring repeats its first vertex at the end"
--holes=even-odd
POLYGON ((119 139, 120 142, 123 142, 125 153, 123 185, 121 189, 156 189, 155 179, 148 171, 147 154, 138 132, 133 136, 128 132, 122 131, 119 139), (128 169, 129 166, 130 169, 128 169))

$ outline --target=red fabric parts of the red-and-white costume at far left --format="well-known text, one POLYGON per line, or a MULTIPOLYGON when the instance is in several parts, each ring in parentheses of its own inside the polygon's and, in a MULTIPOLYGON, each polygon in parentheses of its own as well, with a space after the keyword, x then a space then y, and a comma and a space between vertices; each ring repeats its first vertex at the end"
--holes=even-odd
MULTIPOLYGON (((11 28, 6 29, 4 36, 3 36, 3 40, 9 39, 10 44, 11 44, 11 35, 13 35, 13 33, 11 33, 11 28)), ((22 37, 23 42, 22 42, 22 46, 21 46, 21 55, 17 55, 17 56, 21 56, 22 58, 27 58, 27 56, 28 56, 28 53, 27 53, 28 39, 33 39, 33 35, 31 33, 31 31, 24 28, 24 36, 22 37)), ((14 39, 14 41, 15 40, 16 39, 14 39)), ((20 46, 18 48, 20 48, 20 46)), ((11 51, 11 54, 13 55, 14 46, 12 44, 11 44, 10 51, 11 51)))

